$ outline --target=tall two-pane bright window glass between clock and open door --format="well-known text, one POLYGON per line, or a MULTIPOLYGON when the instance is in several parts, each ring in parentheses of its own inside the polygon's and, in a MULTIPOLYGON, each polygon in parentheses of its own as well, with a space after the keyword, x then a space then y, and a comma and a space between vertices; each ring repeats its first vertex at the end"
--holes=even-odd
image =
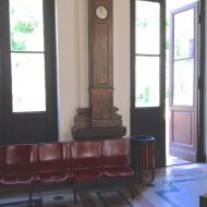
POLYGON ((160 4, 136 0, 135 107, 159 106, 160 4))

